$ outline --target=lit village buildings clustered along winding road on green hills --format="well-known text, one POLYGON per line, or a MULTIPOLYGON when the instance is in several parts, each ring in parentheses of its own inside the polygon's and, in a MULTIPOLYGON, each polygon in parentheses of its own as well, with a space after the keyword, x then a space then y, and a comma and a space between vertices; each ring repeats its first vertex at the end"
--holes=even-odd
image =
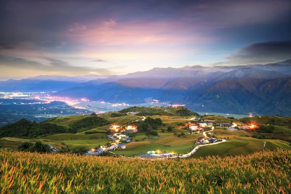
MULTIPOLYGON (((176 158, 176 157, 188 157, 193 154, 193 151, 196 151, 200 146, 206 145, 215 145, 218 143, 222 143, 227 141, 226 139, 218 139, 215 138, 213 132, 214 126, 212 122, 199 122, 200 118, 197 117, 189 117, 188 124, 184 124, 182 129, 187 130, 188 134, 201 134, 201 137, 197 138, 194 147, 195 149, 187 155, 178 155, 174 151, 172 152, 162 152, 159 149, 157 150, 148 150, 146 153, 140 154, 138 158, 152 158, 152 159, 166 159, 166 158, 176 158)), ((238 126, 235 123, 220 123, 218 127, 226 128, 226 129, 235 129, 238 126)), ((239 126, 241 127, 241 126, 239 126)), ((252 126, 243 126, 243 129, 251 128, 252 126)), ((107 138, 111 140, 111 142, 107 143, 104 146, 100 146, 97 149, 92 148, 88 151, 88 155, 100 155, 103 152, 114 151, 117 148, 125 149, 126 145, 130 143, 132 140, 130 138, 130 133, 137 133, 138 127, 135 125, 111 125, 108 129, 110 134, 107 135, 107 138)), ((111 152, 113 153, 113 152, 111 152)), ((114 153, 113 153, 114 154, 114 153)))

